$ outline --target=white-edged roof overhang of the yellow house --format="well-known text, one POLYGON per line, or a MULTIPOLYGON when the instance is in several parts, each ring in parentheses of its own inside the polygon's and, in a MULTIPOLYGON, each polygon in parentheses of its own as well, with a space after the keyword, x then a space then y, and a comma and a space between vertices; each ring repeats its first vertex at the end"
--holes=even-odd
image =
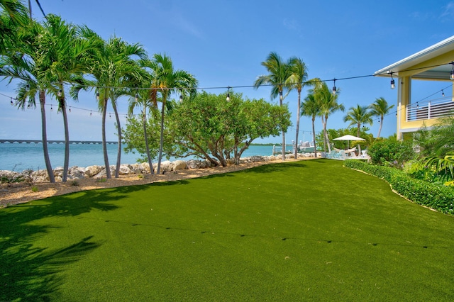
MULTIPOLYGON (((374 73, 376 77, 399 77, 399 73, 411 71, 411 77, 414 79, 445 79, 448 80, 454 61, 454 35, 430 47, 427 47, 414 55, 410 55, 392 65, 384 67, 374 73), (448 55, 450 60, 436 65, 424 65, 437 57, 448 55), (432 66, 432 67, 431 67, 432 66), (420 70, 420 72, 419 72, 420 70)), ((433 64, 433 62, 432 62, 433 64)))

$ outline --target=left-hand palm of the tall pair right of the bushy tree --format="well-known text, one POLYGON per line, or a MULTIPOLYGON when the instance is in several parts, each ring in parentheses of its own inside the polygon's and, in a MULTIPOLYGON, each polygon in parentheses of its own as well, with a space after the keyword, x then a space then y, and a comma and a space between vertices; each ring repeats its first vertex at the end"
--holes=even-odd
MULTIPOLYGON (((262 66, 267 69, 269 74, 260 75, 254 83, 255 89, 262 85, 271 85, 271 99, 276 99, 279 96, 279 105, 282 107, 282 92, 288 87, 285 85, 290 76, 292 69, 289 67, 289 62, 284 62, 277 52, 270 52, 267 60, 262 62, 262 66)), ((282 128, 282 160, 285 160, 285 132, 282 128)))

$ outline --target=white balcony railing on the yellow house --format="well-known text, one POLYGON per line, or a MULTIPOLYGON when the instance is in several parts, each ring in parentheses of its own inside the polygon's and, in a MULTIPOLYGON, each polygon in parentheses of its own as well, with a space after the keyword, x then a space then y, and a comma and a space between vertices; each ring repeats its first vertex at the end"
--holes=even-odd
POLYGON ((445 99, 425 101, 406 107, 406 121, 422 121, 431 118, 454 116, 454 101, 445 99))

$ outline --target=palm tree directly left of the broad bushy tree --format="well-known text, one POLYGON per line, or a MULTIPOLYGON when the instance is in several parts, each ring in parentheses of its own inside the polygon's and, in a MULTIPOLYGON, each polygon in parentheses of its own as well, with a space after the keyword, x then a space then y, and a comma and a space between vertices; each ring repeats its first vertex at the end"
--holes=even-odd
MULTIPOLYGON (((172 60, 167 55, 155 54, 153 60, 143 62, 143 67, 151 69, 150 74, 150 99, 153 104, 157 104, 157 94, 160 94, 161 121, 160 121, 160 145, 157 157, 157 174, 160 173, 162 148, 164 146, 164 116, 167 100, 170 94, 179 90, 195 91, 197 86, 196 78, 182 69, 174 69, 172 60)), ((150 167, 152 168, 152 167, 150 167)))

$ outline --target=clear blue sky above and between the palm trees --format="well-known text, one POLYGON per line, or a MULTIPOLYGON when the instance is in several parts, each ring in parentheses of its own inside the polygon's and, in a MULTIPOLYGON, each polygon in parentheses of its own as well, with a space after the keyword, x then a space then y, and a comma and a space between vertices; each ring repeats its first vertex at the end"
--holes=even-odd
MULTIPOLYGON (((232 86, 250 99, 263 98, 277 104, 278 99, 270 99, 270 87, 251 86, 258 76, 267 74, 261 62, 270 52, 277 52, 284 60, 297 56, 308 67, 308 79, 319 77, 330 87, 333 79, 339 79, 338 102, 345 106, 345 112, 329 116, 328 128, 334 129, 348 127, 343 118, 349 108, 368 106, 379 97, 394 104, 395 110, 397 89, 389 88, 390 79, 362 76, 454 34, 454 1, 40 0, 40 4, 45 13, 84 24, 104 39, 116 35, 128 43, 143 45, 150 56, 170 56, 176 69, 193 74, 199 87, 211 93, 226 93, 232 86), (358 78, 345 79, 353 77, 358 78)), ((43 18, 35 1, 32 13, 36 20, 43 18)), ((413 98, 424 99, 445 86, 445 82, 421 85, 418 91, 412 91, 413 98)), ((39 108, 21 111, 11 106, 15 89, 14 82, 0 82, 0 139, 39 140, 39 108)), ((445 91, 450 93, 450 89, 445 91)), ((301 99, 306 95, 304 89, 301 99)), ((292 111, 294 125, 286 134, 287 143, 291 143, 295 138, 297 92, 290 93, 284 103, 292 111)), ((48 139, 63 140, 57 102, 49 98, 47 104, 48 139)), ((101 140, 101 115, 94 93, 81 94, 77 102, 68 99, 67 104, 71 108, 70 140, 101 140)), ((123 127, 127 107, 128 99, 118 101, 123 127)), ((107 118, 107 140, 116 141, 113 110, 108 111, 112 118, 107 118)), ((379 125, 378 118, 368 125, 374 136, 379 125)), ((299 129, 299 140, 310 140, 311 119, 302 117, 299 129)), ((321 129, 317 118, 316 132, 321 129)), ((384 118, 381 136, 394 133, 396 118, 392 113, 384 118)), ((280 143, 282 138, 255 142, 280 143)))

